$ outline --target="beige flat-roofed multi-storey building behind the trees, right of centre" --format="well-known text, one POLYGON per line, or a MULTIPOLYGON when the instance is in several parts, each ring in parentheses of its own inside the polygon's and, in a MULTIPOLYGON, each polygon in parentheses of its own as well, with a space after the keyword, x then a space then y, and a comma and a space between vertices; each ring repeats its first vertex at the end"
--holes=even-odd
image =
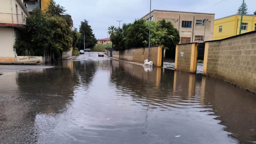
MULTIPOLYGON (((179 31, 180 43, 204 42, 212 40, 214 13, 194 13, 166 10, 151 11, 151 21, 165 19, 171 21, 179 31)), ((148 21, 149 13, 140 19, 148 21)))

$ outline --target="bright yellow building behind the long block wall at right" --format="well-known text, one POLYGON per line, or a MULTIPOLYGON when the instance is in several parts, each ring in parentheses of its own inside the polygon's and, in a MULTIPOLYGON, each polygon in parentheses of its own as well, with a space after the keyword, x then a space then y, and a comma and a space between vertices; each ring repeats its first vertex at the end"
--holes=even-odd
MULTIPOLYGON (((213 40, 220 40, 239 34, 241 14, 234 14, 214 20, 213 40)), ((243 15, 241 33, 256 30, 256 15, 243 15)))

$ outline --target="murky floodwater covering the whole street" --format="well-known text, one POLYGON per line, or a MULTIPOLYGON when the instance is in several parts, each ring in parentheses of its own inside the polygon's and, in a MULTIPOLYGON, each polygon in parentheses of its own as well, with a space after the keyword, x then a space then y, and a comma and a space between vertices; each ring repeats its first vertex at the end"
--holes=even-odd
POLYGON ((0 75, 0 143, 256 143, 256 95, 226 82, 92 52, 51 66, 0 75))

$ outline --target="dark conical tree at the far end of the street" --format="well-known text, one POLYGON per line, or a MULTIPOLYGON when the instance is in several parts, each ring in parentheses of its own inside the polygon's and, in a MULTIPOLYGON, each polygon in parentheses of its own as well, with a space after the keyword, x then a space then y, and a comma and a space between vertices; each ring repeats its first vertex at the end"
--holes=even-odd
POLYGON ((88 21, 84 20, 81 22, 80 30, 81 37, 78 42, 79 49, 84 49, 84 38, 85 38, 85 48, 93 48, 98 40, 95 38, 92 33, 91 26, 88 24, 88 21))

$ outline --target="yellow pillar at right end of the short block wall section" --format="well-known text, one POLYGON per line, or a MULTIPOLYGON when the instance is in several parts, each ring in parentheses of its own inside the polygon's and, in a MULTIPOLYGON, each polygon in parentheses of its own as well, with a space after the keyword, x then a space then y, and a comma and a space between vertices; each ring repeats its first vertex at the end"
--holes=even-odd
POLYGON ((197 43, 192 43, 191 47, 191 58, 190 58, 190 73, 196 73, 196 64, 197 64, 197 43))

